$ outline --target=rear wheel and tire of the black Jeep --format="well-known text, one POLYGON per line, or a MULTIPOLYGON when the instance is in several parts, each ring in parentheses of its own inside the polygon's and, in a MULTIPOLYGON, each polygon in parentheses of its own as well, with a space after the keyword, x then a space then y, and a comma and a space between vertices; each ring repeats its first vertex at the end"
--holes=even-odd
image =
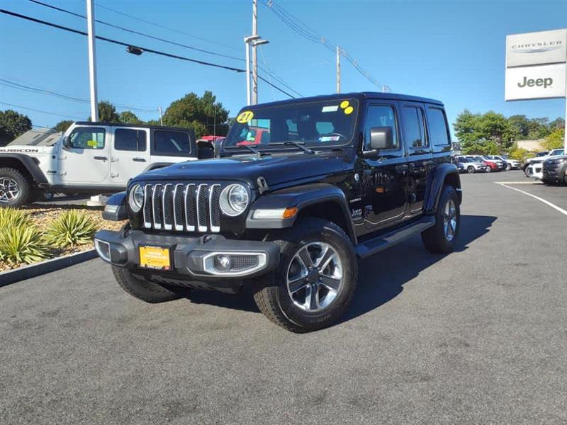
POLYGON ((453 186, 445 186, 435 214, 436 224, 422 232, 425 248, 434 254, 449 254, 455 248, 461 227, 459 197, 453 186))

